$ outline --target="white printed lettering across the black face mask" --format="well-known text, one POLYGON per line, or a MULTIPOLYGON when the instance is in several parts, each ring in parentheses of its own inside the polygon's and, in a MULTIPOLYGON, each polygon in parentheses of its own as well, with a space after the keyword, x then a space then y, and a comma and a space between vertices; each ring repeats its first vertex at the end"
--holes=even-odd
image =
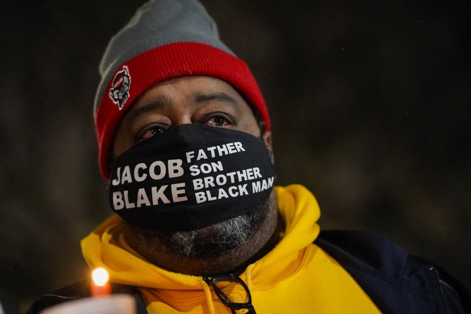
POLYGON ((241 142, 232 142, 189 151, 184 153, 185 156, 181 159, 163 159, 147 163, 140 162, 135 166, 117 167, 116 175, 111 182, 112 186, 126 186, 129 183, 144 181, 147 184, 152 183, 149 185, 141 183, 140 186, 131 184, 129 189, 112 191, 112 206, 114 210, 134 209, 163 206, 188 200, 193 204, 200 204, 260 193, 273 186, 274 177, 266 177, 266 174, 264 177, 259 167, 252 166, 237 170, 235 164, 231 163, 231 159, 225 157, 225 155, 234 153, 247 154, 241 142), (208 160, 210 158, 214 159, 208 160), (191 164, 199 160, 201 161, 191 164), (229 160, 231 171, 224 169, 223 164, 226 160, 229 160), (203 163, 201 163, 202 161, 203 163), (185 172, 188 172, 189 177, 184 177, 185 172), (174 183, 173 180, 171 182, 165 180, 179 177, 183 178, 178 180, 187 182, 174 183), (156 181, 159 180, 165 183, 162 181, 160 184, 157 183, 156 181), (186 193, 188 189, 191 191, 190 194, 186 193))

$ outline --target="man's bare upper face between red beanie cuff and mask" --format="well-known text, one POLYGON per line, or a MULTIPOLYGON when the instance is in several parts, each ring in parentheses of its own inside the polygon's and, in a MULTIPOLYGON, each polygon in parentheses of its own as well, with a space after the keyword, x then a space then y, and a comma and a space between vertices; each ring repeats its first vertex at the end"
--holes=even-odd
MULTIPOLYGON (((181 124, 261 135, 251 108, 228 83, 209 77, 174 78, 150 88, 132 105, 116 132, 113 156, 181 124)), ((271 133, 265 132, 263 139, 271 149, 271 133)))

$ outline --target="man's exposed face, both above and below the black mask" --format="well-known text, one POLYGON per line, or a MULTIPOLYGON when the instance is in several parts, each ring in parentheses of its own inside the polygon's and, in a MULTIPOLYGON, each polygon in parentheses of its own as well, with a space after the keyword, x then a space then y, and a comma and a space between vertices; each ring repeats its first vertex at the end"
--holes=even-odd
MULTIPOLYGON (((194 76, 159 83, 141 95, 118 127, 113 156, 118 157, 134 144, 182 124, 227 128, 262 136, 271 153, 271 133, 261 134, 252 109, 240 94, 220 79, 194 76)), ((264 204, 249 209, 245 215, 190 232, 158 232, 124 221, 123 231, 131 246, 156 264, 166 264, 162 252, 186 258, 217 257, 235 250, 251 238, 264 243, 276 226, 275 204, 276 197, 272 192, 264 204)))

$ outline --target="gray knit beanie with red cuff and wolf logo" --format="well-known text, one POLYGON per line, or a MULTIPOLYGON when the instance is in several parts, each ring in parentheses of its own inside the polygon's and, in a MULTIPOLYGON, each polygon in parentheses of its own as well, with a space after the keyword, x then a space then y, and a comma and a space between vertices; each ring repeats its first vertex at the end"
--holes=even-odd
POLYGON ((197 0, 151 0, 111 38, 100 62, 95 97, 99 163, 109 178, 108 150, 124 113, 153 85, 184 76, 209 76, 231 84, 270 123, 260 88, 247 65, 220 39, 197 0))

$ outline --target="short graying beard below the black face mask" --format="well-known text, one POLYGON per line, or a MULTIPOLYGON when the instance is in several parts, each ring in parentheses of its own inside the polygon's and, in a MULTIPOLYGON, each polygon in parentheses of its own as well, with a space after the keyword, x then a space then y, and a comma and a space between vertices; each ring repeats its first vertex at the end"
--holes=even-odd
POLYGON ((230 252, 259 230, 269 213, 269 199, 250 212, 209 227, 179 232, 154 232, 168 252, 185 258, 208 258, 230 252))

